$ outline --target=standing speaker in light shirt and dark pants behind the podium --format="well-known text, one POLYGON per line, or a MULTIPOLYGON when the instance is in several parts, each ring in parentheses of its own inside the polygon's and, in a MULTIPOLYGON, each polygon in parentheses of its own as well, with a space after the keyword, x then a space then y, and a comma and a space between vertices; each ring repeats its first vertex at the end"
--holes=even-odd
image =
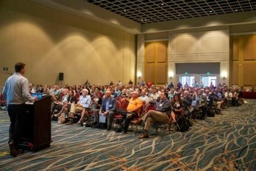
POLYGON ((7 111, 10 117, 9 128, 9 147, 10 155, 16 157, 23 152, 18 149, 21 139, 24 117, 26 115, 25 102, 35 102, 37 97, 31 97, 28 91, 28 79, 23 77, 25 74, 25 63, 18 62, 15 64, 15 73, 7 78, 3 89, 3 96, 7 102, 7 111))

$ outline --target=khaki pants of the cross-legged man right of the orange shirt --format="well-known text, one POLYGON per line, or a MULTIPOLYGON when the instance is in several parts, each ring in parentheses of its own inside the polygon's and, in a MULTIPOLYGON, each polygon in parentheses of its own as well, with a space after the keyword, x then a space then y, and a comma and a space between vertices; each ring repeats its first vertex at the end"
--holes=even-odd
POLYGON ((145 123, 145 131, 149 133, 149 129, 151 123, 167 123, 169 121, 169 117, 160 111, 149 110, 142 118, 145 123))

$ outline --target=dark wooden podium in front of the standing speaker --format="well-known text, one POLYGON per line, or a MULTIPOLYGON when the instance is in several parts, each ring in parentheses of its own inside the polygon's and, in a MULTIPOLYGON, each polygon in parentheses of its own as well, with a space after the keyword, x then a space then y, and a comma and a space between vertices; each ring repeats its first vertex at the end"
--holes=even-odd
POLYGON ((26 103, 26 108, 20 147, 32 151, 48 148, 51 143, 51 96, 26 103))

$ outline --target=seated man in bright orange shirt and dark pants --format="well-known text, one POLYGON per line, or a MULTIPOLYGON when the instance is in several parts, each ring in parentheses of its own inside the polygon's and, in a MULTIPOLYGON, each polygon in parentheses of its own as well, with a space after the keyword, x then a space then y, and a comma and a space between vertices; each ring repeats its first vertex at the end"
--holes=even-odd
POLYGON ((127 129, 129 127, 130 121, 133 118, 139 117, 140 109, 142 107, 142 101, 139 99, 139 92, 134 91, 131 94, 132 94, 131 99, 123 99, 123 100, 126 100, 127 102, 129 102, 129 104, 126 109, 127 112, 121 113, 125 117, 124 128, 123 128, 122 134, 127 133, 127 129))

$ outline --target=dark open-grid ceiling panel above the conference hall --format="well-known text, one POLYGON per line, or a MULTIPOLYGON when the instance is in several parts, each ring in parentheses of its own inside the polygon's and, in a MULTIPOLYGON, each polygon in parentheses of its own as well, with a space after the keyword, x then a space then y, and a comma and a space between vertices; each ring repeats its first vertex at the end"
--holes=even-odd
POLYGON ((84 0, 144 24, 209 15, 256 11, 256 0, 84 0))

